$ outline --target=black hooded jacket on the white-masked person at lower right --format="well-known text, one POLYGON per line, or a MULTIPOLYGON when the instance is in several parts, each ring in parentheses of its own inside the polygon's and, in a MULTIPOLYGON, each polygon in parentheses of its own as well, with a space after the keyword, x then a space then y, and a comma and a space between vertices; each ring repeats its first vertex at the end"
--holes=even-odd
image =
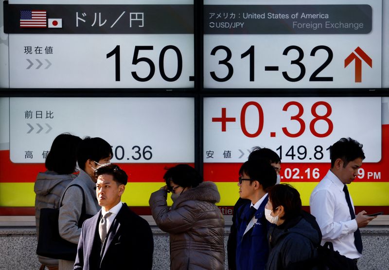
POLYGON ((267 270, 286 269, 290 263, 317 256, 320 233, 301 216, 269 229, 267 270))

